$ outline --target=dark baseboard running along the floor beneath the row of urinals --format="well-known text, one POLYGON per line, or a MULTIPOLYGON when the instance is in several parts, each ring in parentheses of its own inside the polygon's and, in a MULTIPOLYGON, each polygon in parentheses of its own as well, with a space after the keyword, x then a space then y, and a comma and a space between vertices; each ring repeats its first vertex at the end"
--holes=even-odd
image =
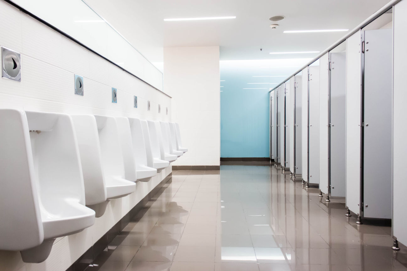
POLYGON ((172 173, 168 174, 153 190, 150 191, 136 206, 134 206, 120 221, 106 232, 98 241, 94 243, 76 262, 66 271, 84 271, 93 261, 106 249, 107 245, 123 231, 126 225, 142 210, 142 208, 153 198, 155 194, 172 178, 172 173))

